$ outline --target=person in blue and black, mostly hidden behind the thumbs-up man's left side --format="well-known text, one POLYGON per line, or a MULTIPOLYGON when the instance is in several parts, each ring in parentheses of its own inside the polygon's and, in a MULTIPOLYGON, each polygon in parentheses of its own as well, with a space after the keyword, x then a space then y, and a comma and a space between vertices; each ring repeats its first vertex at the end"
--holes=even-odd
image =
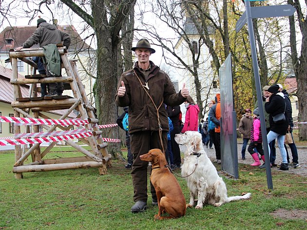
POLYGON ((127 158, 128 158, 128 163, 125 165, 126 169, 132 169, 132 164, 133 164, 133 155, 130 150, 130 135, 128 133, 128 106, 124 107, 124 113, 116 119, 116 123, 118 126, 123 129, 126 132, 126 146, 127 146, 127 158))

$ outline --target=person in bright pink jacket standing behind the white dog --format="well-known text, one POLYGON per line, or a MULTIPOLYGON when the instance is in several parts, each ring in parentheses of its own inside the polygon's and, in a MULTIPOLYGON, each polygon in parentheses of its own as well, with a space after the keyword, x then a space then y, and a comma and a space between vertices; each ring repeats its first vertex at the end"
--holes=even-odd
POLYGON ((185 133, 186 131, 198 131, 198 105, 195 104, 191 96, 187 97, 184 104, 187 112, 181 133, 185 133))

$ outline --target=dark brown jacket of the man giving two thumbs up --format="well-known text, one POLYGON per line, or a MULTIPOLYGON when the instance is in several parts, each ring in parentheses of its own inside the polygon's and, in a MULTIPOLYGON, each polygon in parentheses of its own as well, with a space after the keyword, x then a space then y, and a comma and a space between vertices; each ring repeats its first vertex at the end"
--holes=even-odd
MULTIPOLYGON (((164 73, 160 68, 151 64, 151 71, 148 76, 149 90, 146 90, 152 97, 155 106, 158 108, 163 100, 166 105, 175 106, 182 104, 186 98, 181 95, 181 92, 176 94, 173 83, 170 77, 164 73)), ((126 94, 124 96, 115 95, 117 106, 129 106, 129 133, 132 134, 137 131, 158 131, 157 112, 152 100, 143 89, 141 83, 135 76, 135 73, 145 85, 145 77, 141 73, 137 62, 133 70, 129 70, 122 74, 117 85, 121 86, 121 81, 124 81, 126 87, 126 94)), ((159 119, 163 131, 169 131, 169 121, 165 106, 162 104, 159 109, 159 119)))

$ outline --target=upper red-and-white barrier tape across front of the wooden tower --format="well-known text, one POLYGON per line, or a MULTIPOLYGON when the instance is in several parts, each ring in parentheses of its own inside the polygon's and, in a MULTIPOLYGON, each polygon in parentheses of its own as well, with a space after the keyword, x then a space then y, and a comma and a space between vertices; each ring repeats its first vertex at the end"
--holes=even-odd
POLYGON ((0 122, 16 123, 19 125, 76 125, 81 126, 88 124, 88 120, 82 119, 67 119, 67 120, 58 120, 58 119, 40 119, 40 118, 26 118, 26 117, 10 117, 10 116, 0 116, 0 122))

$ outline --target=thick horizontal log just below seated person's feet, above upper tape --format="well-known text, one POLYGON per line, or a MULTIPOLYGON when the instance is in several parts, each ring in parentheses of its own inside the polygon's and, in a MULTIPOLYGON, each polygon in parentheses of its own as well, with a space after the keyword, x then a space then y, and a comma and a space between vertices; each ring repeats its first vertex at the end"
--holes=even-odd
POLYGON ((69 98, 62 100, 41 100, 41 101, 13 101, 11 103, 13 108, 35 108, 35 107, 55 107, 55 106, 64 106, 64 105, 73 105, 79 101, 77 98, 69 98))

